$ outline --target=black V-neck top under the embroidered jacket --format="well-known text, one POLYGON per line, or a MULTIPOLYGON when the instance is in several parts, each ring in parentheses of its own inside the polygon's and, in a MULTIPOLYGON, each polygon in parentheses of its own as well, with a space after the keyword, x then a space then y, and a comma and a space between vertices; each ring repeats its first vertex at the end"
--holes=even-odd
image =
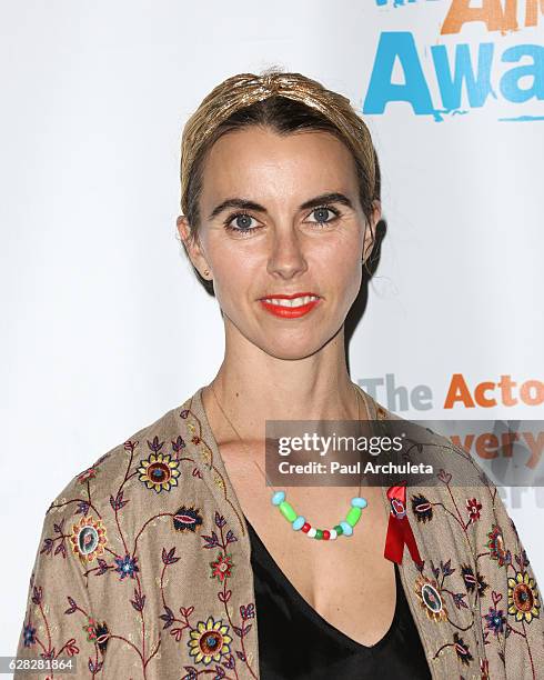
POLYGON ((393 622, 376 644, 365 647, 329 623, 304 600, 248 518, 245 521, 251 542, 261 680, 431 678, 396 563, 393 622))

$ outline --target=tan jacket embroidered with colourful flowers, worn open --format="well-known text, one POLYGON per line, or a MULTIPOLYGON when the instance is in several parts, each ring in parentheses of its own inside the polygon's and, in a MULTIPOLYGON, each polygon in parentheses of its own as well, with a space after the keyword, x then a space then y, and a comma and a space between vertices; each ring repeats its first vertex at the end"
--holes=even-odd
MULTIPOLYGON (((250 540, 201 389, 49 507, 17 654, 77 670, 14 678, 259 678, 250 540)), ((373 419, 399 418, 364 396, 373 419)), ((541 596, 515 526, 471 457, 429 437, 440 484, 407 488, 423 563, 405 547, 400 574, 432 677, 544 678, 541 596)))

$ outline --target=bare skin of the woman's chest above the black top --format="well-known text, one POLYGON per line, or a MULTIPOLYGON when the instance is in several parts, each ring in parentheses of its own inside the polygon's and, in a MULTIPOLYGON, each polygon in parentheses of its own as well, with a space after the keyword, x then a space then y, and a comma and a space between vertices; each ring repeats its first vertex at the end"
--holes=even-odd
MULTIPOLYGON (((298 593, 354 641, 366 647, 380 641, 391 627, 396 604, 394 566, 383 557, 389 516, 381 489, 363 489, 367 507, 353 536, 333 541, 310 539, 294 531, 272 506, 272 489, 252 461, 229 447, 221 454, 243 513, 298 593)), ((342 520, 357 493, 349 487, 285 491, 293 508, 321 528, 342 520)))

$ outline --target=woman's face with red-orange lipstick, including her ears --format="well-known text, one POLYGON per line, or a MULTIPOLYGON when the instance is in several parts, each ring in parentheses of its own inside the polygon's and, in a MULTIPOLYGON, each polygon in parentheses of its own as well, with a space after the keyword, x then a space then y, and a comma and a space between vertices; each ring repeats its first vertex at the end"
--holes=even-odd
MULTIPOLYGON (((189 243, 183 218, 178 228, 195 267, 213 278, 230 339, 238 330, 271 356, 301 359, 336 334, 372 241, 340 140, 258 127, 224 134, 204 163, 200 216, 200 244, 189 243), (305 313, 262 302, 293 293, 319 301, 305 313)), ((372 231, 379 217, 376 209, 372 231)))

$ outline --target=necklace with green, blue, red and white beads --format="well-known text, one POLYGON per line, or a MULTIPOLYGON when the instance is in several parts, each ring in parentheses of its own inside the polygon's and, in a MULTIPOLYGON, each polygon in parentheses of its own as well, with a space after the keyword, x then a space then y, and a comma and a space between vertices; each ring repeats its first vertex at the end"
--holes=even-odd
MULTIPOLYGON (((351 384, 355 391, 355 397, 357 400, 357 421, 360 422, 361 421, 361 401, 360 401, 361 398, 360 398, 359 391, 356 390, 355 386, 353 383, 351 384)), ((215 401, 221 412, 223 413, 226 422, 231 426, 232 430, 234 431, 236 437, 240 439, 240 443, 245 449, 245 452, 249 454, 248 448, 245 447, 243 439, 240 437, 236 428, 232 424, 230 418, 224 412, 223 407, 221 406, 218 399, 218 396, 215 394, 213 383, 210 383, 210 386, 212 388, 213 397, 215 398, 215 401)), ((268 478, 266 473, 263 472, 261 466, 255 460, 253 460, 253 462, 255 463, 258 470, 261 472, 265 481, 269 482, 269 486, 272 487, 272 490, 273 490, 272 499, 271 499, 272 504, 279 508, 280 512, 291 523, 291 527, 294 531, 302 531, 302 533, 305 533, 308 538, 313 538, 316 540, 324 540, 324 541, 333 541, 339 536, 350 537, 353 534, 353 529, 355 524, 359 522, 359 520, 361 519, 361 513, 363 509, 366 508, 367 506, 366 499, 362 498, 361 496, 361 478, 359 480, 357 496, 351 499, 351 508, 347 511, 345 519, 340 521, 332 529, 318 529, 316 527, 312 527, 312 524, 308 522, 306 519, 302 517, 302 514, 299 514, 294 510, 291 503, 289 503, 285 500, 285 496, 286 496, 285 491, 274 489, 274 487, 270 483, 270 479, 268 478)))

